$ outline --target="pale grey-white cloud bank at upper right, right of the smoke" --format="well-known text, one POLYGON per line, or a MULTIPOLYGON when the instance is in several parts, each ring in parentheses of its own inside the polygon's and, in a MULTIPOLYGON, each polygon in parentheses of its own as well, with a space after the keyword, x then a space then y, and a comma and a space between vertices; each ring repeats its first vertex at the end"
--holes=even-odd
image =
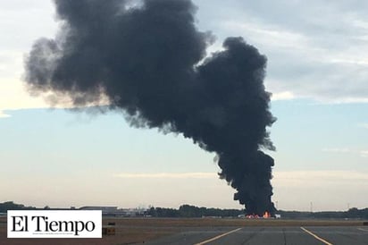
POLYGON ((368 103, 364 1, 235 2, 226 11, 205 13, 206 21, 218 28, 216 33, 243 36, 267 55, 269 91, 328 104, 368 103))

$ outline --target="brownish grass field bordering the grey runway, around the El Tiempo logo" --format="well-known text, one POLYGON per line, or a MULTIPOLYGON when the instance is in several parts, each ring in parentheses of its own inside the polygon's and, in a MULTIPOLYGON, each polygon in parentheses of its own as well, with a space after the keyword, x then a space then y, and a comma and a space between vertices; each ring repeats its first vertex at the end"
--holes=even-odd
POLYGON ((0 244, 101 244, 122 245, 144 243, 164 235, 185 232, 196 227, 215 226, 358 226, 355 220, 284 220, 226 218, 104 218, 103 224, 115 223, 116 234, 102 239, 7 239, 6 218, 0 218, 0 244))

